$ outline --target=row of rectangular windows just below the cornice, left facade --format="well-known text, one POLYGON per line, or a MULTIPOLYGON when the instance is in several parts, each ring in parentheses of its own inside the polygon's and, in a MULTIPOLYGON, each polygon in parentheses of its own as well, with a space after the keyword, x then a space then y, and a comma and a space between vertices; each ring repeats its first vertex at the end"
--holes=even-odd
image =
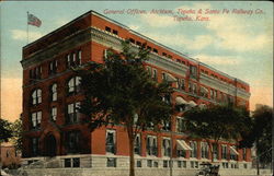
MULTIPOLYGON (((79 66, 82 63, 82 51, 79 50, 75 50, 71 51, 69 54, 66 55, 66 66, 67 68, 71 68, 75 66, 79 66)), ((48 62, 48 75, 53 75, 56 74, 58 72, 58 60, 54 59, 52 61, 48 62)), ((42 66, 35 67, 33 69, 30 70, 30 82, 35 82, 37 80, 42 79, 42 74, 43 74, 43 69, 42 66)))

